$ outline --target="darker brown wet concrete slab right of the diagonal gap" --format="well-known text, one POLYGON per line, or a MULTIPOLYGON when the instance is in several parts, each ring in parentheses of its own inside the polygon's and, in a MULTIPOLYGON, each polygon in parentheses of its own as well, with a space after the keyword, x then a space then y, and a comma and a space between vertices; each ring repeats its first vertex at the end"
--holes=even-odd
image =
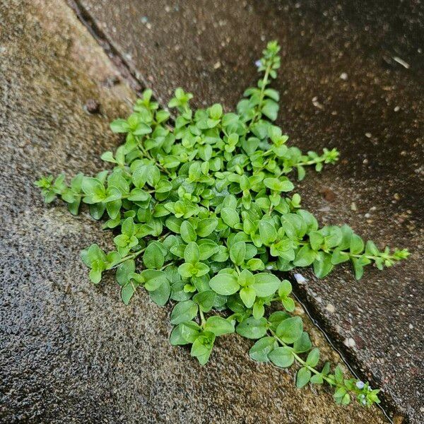
POLYGON ((336 340, 355 340, 348 354, 372 372, 387 400, 422 422, 421 2, 80 3, 163 103, 182 86, 197 105, 234 107, 256 81, 253 64, 265 40, 281 42, 279 122, 305 150, 331 146, 342 155, 301 184, 305 206, 322 223, 346 222, 380 246, 413 252, 405 264, 368 271, 360 282, 342 267, 298 292, 336 340))

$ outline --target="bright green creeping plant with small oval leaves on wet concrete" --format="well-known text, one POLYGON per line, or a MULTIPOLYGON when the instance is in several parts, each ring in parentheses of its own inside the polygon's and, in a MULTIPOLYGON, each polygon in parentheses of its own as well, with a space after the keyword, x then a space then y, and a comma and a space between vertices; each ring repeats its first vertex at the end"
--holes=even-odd
POLYGON ((348 225, 320 228, 301 208, 300 195, 288 194, 294 188, 290 172, 302 179, 308 166, 321 171, 338 152, 302 154, 272 123, 279 95, 269 83, 280 66, 278 50, 269 42, 257 62, 263 77, 245 91, 237 112, 224 113, 218 104, 194 112, 192 94, 177 88, 168 105, 177 110, 171 127, 170 113, 146 90, 128 119, 111 124, 126 134, 115 154, 102 155, 112 170, 77 175, 70 185, 64 175, 35 184, 47 203, 59 197, 73 214, 81 202, 95 219, 107 214, 104 228, 116 232, 116 250, 83 250, 91 281, 99 283, 104 271, 114 269, 125 304, 139 287, 158 305, 171 300, 170 342, 192 345, 202 365, 216 337, 236 331, 257 340, 249 352, 254 360, 277 367, 298 363, 298 387, 327 382, 338 403, 348 404, 354 394, 371 405, 379 402, 378 390, 344 379, 339 366, 334 373, 329 363, 317 367, 319 350, 293 315, 292 285, 271 271, 312 265, 321 278, 351 261, 360 278, 367 264, 382 269, 408 252, 380 251, 348 225), (284 310, 266 316, 272 302, 284 310))

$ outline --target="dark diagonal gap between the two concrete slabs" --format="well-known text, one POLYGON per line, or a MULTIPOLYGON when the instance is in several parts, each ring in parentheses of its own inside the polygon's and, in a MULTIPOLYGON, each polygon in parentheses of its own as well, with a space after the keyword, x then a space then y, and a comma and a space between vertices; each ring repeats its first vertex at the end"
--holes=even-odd
MULTIPOLYGON (((129 86, 139 95, 144 88, 149 86, 149 81, 147 78, 144 78, 143 74, 137 71, 136 66, 131 64, 130 61, 127 61, 122 54, 120 54, 119 49, 114 47, 114 44, 107 35, 101 30, 99 25, 95 22, 90 16, 90 13, 86 10, 84 6, 78 0, 66 0, 69 6, 75 11, 78 19, 81 20, 83 25, 88 28, 90 34, 93 35, 95 40, 100 44, 100 46, 105 50, 106 54, 110 57, 115 66, 119 69, 119 72, 122 74, 122 77, 126 79, 129 83, 129 86)), ((152 87, 153 93, 155 93, 155 88, 152 87)), ((160 105, 163 107, 166 102, 161 98, 158 93, 154 94, 154 97, 160 105)), ((172 115, 172 111, 171 111, 172 115)), ((331 171, 330 171, 331 172, 331 171)), ((311 298, 310 294, 307 293, 307 290, 299 285, 297 279, 293 276, 295 272, 281 273, 281 277, 290 279, 293 285, 293 294, 295 295, 296 300, 302 305, 305 309, 305 312, 310 317, 315 326, 322 332, 326 340, 330 343, 331 347, 341 356, 341 359, 348 367, 350 372, 355 375, 355 377, 363 377, 364 380, 371 382, 373 387, 379 387, 379 379, 372 375, 372 372, 368 369, 366 364, 360 363, 358 357, 355 355, 354 351, 346 349, 343 342, 340 339, 340 334, 337 334, 334 331, 334 328, 328 326, 328 319, 322 314, 322 310, 319 309, 317 302, 311 298)), ((387 391, 380 392, 380 399, 382 399, 382 404, 379 405, 379 408, 382 409, 386 417, 391 420, 394 414, 396 414, 396 406, 394 401, 391 399, 391 396, 387 394, 387 391), (387 412, 386 412, 387 411, 387 412), (391 416, 391 418, 390 418, 391 416)), ((403 420, 401 416, 395 416, 395 420, 403 420)))

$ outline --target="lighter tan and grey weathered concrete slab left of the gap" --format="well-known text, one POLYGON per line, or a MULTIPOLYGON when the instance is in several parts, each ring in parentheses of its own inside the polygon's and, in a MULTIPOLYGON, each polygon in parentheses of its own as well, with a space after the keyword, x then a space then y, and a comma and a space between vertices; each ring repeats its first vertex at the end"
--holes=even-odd
POLYGON ((125 307, 111 280, 89 283, 79 251, 110 248, 110 233, 87 213, 45 206, 32 183, 100 170, 100 153, 119 142, 108 122, 132 94, 110 87, 117 71, 64 2, 0 5, 0 421, 383 423, 377 408, 296 390, 292 374, 249 360, 238 336, 200 367, 169 345, 168 308, 144 293, 125 307), (86 112, 89 99, 100 114, 86 112))

